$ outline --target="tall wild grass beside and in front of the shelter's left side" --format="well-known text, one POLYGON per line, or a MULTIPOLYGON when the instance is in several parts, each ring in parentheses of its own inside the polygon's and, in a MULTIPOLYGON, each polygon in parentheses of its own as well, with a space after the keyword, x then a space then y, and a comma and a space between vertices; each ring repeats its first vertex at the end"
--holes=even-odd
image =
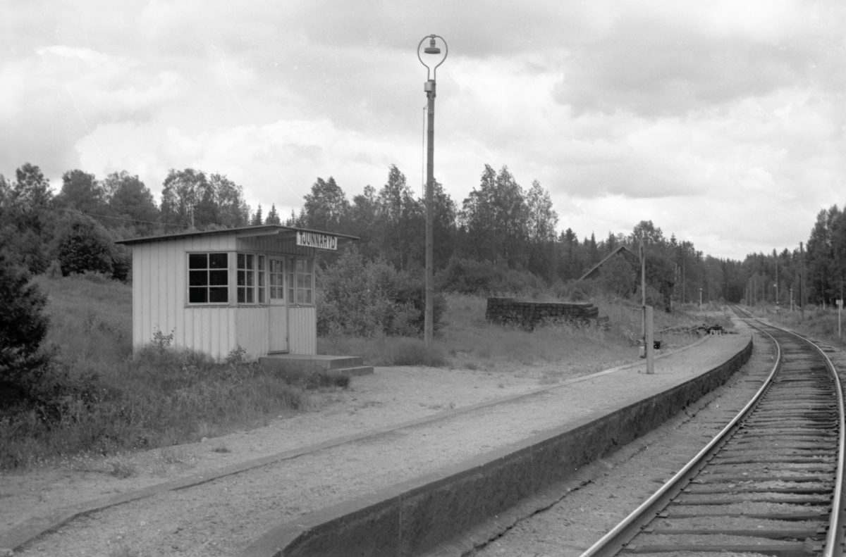
POLYGON ((0 467, 190 442, 310 405, 307 385, 241 363, 239 354, 218 364, 162 336, 133 355, 126 285, 37 280, 49 294, 47 341, 58 347, 52 374, 61 388, 46 406, 0 416, 0 467))

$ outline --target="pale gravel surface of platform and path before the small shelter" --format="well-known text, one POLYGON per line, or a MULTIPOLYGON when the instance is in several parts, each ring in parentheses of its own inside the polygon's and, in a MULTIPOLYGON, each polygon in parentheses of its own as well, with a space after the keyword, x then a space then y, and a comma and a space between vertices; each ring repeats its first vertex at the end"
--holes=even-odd
MULTIPOLYGON (((640 373, 643 366, 639 365, 578 383, 553 385, 532 396, 114 506, 36 538, 25 546, 25 554, 236 555, 281 522, 434 472, 556 428, 598 408, 687 380, 722 363, 738 352, 745 341, 740 336, 711 337, 689 350, 657 360, 654 375, 640 373)), ((170 471, 170 477, 184 476, 185 470, 190 474, 209 472, 235 461, 310 445, 339 434, 469 406, 493 400, 497 395, 536 390, 540 374, 541 369, 520 369, 496 377, 486 372, 377 369, 372 376, 355 378, 353 390, 329 393, 327 396, 338 400, 328 401, 321 412, 280 419, 260 430, 179 447, 171 453, 151 451, 127 457, 128 467, 144 472, 126 480, 100 473, 102 478, 96 479, 102 481, 98 487, 108 494, 114 489, 126 491, 157 483, 157 478, 161 482, 157 467, 164 467, 164 474, 170 471), (378 385, 385 384, 390 384, 389 390, 380 390, 378 385), (422 391, 427 394, 422 395, 422 391), (418 401, 404 400, 408 393, 414 393, 418 401), (231 452, 213 451, 222 448, 231 452)), ((39 487, 32 478, 19 478, 17 489, 8 489, 9 478, 3 477, 3 489, 9 491, 6 501, 12 501, 13 509, 14 502, 30 503, 20 505, 17 511, 4 511, 0 515, 4 527, 19 523, 22 517, 39 516, 38 513, 61 506, 57 501, 67 504, 73 500, 70 494, 74 484, 91 494, 96 489, 92 485, 98 483, 94 478, 74 478, 73 471, 63 472, 64 475, 55 471, 41 473, 45 475, 43 482, 51 473, 60 479, 52 491, 41 484, 46 494, 43 497, 33 497, 31 493, 26 496, 23 486, 39 487)), ((8 509, 7 505, 4 507, 8 509)))

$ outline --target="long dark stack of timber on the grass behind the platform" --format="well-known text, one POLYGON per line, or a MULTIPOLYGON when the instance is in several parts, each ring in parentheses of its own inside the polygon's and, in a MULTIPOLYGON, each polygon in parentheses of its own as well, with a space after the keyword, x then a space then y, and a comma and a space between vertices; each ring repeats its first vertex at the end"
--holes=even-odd
POLYGON ((599 318, 599 308, 592 303, 525 302, 517 298, 487 298, 485 319, 491 323, 519 325, 526 329, 534 329, 541 322, 593 325, 602 320, 599 318))

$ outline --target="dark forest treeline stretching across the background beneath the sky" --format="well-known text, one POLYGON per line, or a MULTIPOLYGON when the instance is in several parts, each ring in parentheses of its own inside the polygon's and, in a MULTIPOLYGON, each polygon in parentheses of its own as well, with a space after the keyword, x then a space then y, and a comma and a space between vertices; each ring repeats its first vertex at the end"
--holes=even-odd
MULTIPOLYGON (((425 260, 425 202, 396 166, 380 188, 367 185, 351 199, 333 177, 317 177, 299 212, 286 217, 271 205, 252 210, 244 189, 226 176, 186 168, 170 170, 156 202, 138 176, 114 172, 97 178, 65 172, 58 192, 30 163, 14 179, 0 175, 0 247, 8 258, 39 274, 53 265, 64 275, 92 270, 125 280, 129 255, 114 240, 157 233, 242 227, 266 223, 342 232, 365 260, 382 259, 398 271, 413 272, 425 260)), ((434 263, 444 291, 527 291, 572 285, 620 245, 635 254, 640 238, 647 254, 647 294, 657 306, 722 299, 728 302, 789 303, 799 300, 799 247, 781 253, 750 254, 744 261, 714 258, 693 243, 665 237, 651 221, 629 234, 581 238, 570 227, 558 232, 558 213, 541 183, 523 188, 503 166, 485 165, 479 183, 460 202, 440 183, 433 204, 434 263), (776 286, 777 285, 777 286, 776 286), (777 293, 776 293, 777 292, 777 293)), ((324 259, 331 265, 332 259, 324 259)), ((846 214, 821 210, 805 253, 805 299, 832 303, 842 296, 846 271, 846 214)), ((607 275, 610 275, 608 273, 607 275)), ((637 276, 606 289, 634 293, 637 276)))

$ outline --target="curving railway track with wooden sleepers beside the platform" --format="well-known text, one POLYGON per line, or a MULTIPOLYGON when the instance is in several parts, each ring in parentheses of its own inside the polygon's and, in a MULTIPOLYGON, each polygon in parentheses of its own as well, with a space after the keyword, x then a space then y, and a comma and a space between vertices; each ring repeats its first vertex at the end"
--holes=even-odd
POLYGON ((692 461, 581 557, 843 554, 843 390, 825 352, 787 330, 761 389, 692 461))

